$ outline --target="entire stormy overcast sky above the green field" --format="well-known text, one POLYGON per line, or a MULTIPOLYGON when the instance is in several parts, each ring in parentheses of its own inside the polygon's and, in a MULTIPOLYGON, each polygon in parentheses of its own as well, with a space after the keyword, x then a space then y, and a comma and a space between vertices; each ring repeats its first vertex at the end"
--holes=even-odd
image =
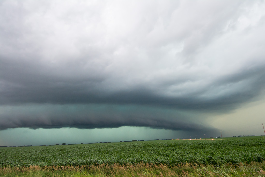
POLYGON ((0 146, 264 134, 264 9, 0 0, 0 146))

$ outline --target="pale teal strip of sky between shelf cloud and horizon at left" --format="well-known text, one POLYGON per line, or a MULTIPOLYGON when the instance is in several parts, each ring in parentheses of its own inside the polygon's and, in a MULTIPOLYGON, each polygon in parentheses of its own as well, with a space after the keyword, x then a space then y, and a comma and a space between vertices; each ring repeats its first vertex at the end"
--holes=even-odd
POLYGON ((16 128, 15 130, 1 131, 1 142, 5 142, 7 146, 22 145, 55 145, 62 144, 80 144, 80 143, 96 143, 96 142, 119 142, 137 140, 154 140, 175 138, 176 132, 172 130, 156 130, 146 127, 120 127, 120 128, 103 128, 103 129, 77 129, 77 128, 61 128, 61 129, 29 129, 16 128), (37 133, 36 133, 37 132, 37 133), (56 135, 56 136, 54 136, 56 135), (25 138, 25 136, 27 138, 25 138), (154 138, 155 137, 155 138, 154 138), (10 143, 12 142, 12 143, 10 143), (15 142, 15 143, 13 143, 15 142), (9 144, 8 144, 9 143, 9 144))

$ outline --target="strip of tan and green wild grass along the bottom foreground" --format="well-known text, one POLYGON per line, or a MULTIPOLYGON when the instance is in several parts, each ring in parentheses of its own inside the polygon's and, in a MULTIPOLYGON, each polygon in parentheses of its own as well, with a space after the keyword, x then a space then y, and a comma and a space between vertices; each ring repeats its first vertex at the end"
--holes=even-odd
POLYGON ((167 165, 96 165, 65 167, 6 167, 0 169, 3 177, 39 177, 39 176, 265 176, 265 162, 222 166, 185 163, 169 167, 167 165))

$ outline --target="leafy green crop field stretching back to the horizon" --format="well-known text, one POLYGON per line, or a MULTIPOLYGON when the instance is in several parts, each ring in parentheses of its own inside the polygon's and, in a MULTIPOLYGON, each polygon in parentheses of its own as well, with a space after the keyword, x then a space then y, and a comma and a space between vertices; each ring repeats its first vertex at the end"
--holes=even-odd
MULTIPOLYGON (((224 169, 225 167, 231 169, 233 167, 236 171, 236 167, 245 166, 244 168, 247 169, 252 165, 251 169, 254 170, 251 173, 256 172, 258 176, 262 176, 265 171, 264 161, 265 140, 262 138, 14 147, 0 149, 0 176, 3 176, 5 169, 11 169, 11 171, 31 169, 29 171, 32 172, 34 169, 69 170, 82 167, 82 169, 89 170, 95 166, 103 169, 107 166, 134 168, 139 164, 144 169, 147 166, 156 169, 161 165, 169 170, 176 167, 188 168, 189 166, 193 169, 198 167, 202 170, 198 172, 201 174, 207 168, 223 166, 224 169), (202 167, 205 169, 203 170, 202 167)), ((175 173, 173 172, 172 174, 175 173)))

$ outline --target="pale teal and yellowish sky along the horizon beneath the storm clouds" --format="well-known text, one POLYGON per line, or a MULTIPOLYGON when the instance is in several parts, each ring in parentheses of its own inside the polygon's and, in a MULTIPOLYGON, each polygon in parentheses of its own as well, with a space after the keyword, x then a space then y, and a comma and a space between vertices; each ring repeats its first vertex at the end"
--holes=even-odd
MULTIPOLYGON (((263 127, 260 124, 264 120, 265 100, 249 103, 230 114, 220 114, 209 116, 210 124, 220 129, 220 132, 214 136, 231 137, 238 135, 264 135, 263 127), (244 121, 242 121, 244 120, 244 121), (235 128, 235 125, 236 128, 235 128)), ((15 128, 0 131, 0 146, 23 146, 23 145, 55 145, 62 144, 80 144, 96 142, 119 142, 171 138, 196 138, 196 133, 183 134, 179 131, 152 129, 148 127, 120 127, 103 129, 29 129, 15 128)), ((197 136, 200 138, 201 136, 197 136)), ((206 137, 212 137, 206 135, 206 137)), ((203 138, 203 136, 202 136, 203 138)))

